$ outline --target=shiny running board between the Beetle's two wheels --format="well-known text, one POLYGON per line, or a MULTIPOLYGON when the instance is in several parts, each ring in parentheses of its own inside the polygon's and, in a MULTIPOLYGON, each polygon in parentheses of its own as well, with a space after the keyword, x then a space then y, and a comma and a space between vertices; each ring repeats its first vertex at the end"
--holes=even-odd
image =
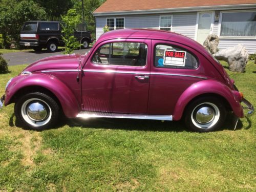
POLYGON ((123 114, 123 113, 104 113, 104 112, 91 112, 81 111, 76 117, 83 119, 88 118, 126 118, 126 119, 152 119, 152 120, 165 120, 172 121, 172 115, 137 115, 137 114, 123 114))

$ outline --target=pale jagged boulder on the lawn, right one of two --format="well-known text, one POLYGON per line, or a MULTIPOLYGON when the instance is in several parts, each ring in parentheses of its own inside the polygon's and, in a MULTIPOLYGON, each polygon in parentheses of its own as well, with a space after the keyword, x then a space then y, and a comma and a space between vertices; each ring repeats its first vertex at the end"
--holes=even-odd
POLYGON ((244 72, 249 58, 248 51, 241 44, 220 50, 213 56, 218 60, 226 61, 229 65, 229 70, 234 72, 244 72))

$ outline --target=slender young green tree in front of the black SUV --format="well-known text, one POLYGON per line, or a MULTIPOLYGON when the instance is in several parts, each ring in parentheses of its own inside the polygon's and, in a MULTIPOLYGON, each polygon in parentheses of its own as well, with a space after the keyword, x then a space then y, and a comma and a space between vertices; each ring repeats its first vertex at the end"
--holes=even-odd
POLYGON ((64 54, 70 54, 75 49, 80 47, 80 43, 74 36, 74 29, 80 23, 81 16, 77 13, 75 9, 68 10, 67 15, 61 16, 64 24, 62 26, 62 39, 65 43, 64 54))

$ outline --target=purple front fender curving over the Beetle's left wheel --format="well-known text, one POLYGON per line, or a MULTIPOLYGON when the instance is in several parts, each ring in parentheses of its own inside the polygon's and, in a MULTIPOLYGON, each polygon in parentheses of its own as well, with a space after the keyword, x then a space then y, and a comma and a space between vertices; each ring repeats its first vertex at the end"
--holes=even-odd
POLYGON ((14 77, 6 90, 5 105, 10 104, 13 96, 19 90, 34 86, 52 92, 59 100, 67 117, 74 118, 80 112, 80 106, 72 91, 58 78, 43 73, 32 73, 14 77))

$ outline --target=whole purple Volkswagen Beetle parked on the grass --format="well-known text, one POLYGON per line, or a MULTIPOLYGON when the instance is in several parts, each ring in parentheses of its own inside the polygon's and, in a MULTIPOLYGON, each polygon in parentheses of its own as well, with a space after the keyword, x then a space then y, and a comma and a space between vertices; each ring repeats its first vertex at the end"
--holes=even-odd
MULTIPOLYGON (((32 129, 68 118, 185 120, 194 131, 222 126, 226 113, 253 106, 220 63, 183 35, 124 29, 103 34, 86 55, 38 60, 6 86, 5 105, 32 129)), ((2 104, 3 105, 3 104, 2 104)))

